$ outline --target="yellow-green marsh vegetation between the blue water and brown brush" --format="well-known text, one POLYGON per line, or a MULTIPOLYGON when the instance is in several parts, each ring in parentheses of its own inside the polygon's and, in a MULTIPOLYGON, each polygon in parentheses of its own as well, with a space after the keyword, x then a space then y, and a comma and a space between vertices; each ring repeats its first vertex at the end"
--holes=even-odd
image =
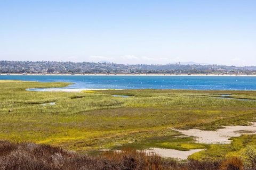
POLYGON ((256 99, 256 91, 26 91, 67 85, 0 81, 0 139, 47 143, 79 152, 123 147, 206 148, 190 156, 196 159, 236 155, 256 143, 254 135, 243 135, 232 138, 231 145, 203 145, 172 130, 249 125, 256 121, 256 101, 237 99, 256 99), (236 99, 220 98, 225 94, 236 99), (50 102, 55 105, 42 105, 50 102))

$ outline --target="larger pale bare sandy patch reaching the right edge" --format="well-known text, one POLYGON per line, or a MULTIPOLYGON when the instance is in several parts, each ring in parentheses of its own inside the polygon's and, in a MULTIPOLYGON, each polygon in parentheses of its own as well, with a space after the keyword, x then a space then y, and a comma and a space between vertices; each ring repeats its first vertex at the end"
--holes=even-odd
POLYGON ((223 129, 217 131, 203 131, 199 129, 178 130, 182 134, 196 137, 197 143, 206 144, 229 144, 231 137, 239 137, 242 134, 256 134, 256 122, 250 126, 223 126, 223 129))

